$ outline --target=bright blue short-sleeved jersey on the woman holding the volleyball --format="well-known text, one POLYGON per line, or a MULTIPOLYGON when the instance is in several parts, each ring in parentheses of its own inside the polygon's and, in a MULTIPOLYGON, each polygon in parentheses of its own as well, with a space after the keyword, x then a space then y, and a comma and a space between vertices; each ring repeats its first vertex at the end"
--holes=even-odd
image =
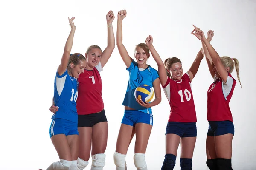
POLYGON ((136 102, 134 92, 139 85, 148 85, 152 88, 154 80, 159 77, 157 70, 149 65, 148 68, 140 71, 140 69, 138 68, 138 63, 134 60, 132 60, 131 65, 129 66, 129 68, 126 68, 126 70, 129 71, 129 81, 127 85, 125 99, 122 105, 128 106, 144 113, 152 114, 151 108, 145 108, 136 102))

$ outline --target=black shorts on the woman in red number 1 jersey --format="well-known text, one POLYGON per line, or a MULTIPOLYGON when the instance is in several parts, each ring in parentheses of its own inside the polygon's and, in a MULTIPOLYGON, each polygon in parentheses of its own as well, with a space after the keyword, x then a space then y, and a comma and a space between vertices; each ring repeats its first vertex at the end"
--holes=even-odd
POLYGON ((99 113, 78 115, 77 127, 93 127, 99 122, 108 122, 104 109, 99 113))

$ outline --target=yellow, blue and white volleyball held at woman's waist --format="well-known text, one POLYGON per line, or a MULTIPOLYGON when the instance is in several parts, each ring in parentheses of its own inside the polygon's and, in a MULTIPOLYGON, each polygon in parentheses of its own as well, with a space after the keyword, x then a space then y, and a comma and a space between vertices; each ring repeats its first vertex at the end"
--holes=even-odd
POLYGON ((135 89, 134 96, 143 102, 150 102, 154 97, 154 91, 149 85, 140 85, 135 89))

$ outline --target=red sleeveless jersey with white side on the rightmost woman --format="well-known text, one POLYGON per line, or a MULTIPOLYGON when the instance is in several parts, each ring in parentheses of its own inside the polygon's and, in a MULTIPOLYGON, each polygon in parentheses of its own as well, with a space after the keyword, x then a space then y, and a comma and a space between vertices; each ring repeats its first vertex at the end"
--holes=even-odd
POLYGON ((207 120, 233 122, 229 102, 233 95, 236 80, 228 73, 227 82, 214 77, 214 82, 207 91, 207 120))

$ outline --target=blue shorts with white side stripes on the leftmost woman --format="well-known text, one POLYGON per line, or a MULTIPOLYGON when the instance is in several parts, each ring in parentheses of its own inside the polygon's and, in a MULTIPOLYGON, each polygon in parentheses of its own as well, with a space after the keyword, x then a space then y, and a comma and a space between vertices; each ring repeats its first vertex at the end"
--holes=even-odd
POLYGON ((77 123, 66 119, 52 119, 50 137, 58 134, 78 135, 77 123))

